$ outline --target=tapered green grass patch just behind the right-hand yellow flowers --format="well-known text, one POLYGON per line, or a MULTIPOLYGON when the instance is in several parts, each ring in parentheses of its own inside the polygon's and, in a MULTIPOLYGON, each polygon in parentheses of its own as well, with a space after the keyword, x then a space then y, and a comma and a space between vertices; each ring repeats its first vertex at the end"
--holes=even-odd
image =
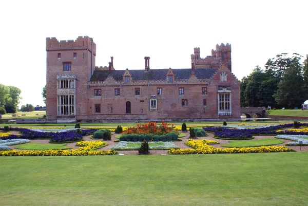
POLYGON ((230 140, 230 144, 221 145, 223 147, 253 147, 282 144, 283 140, 278 139, 260 139, 260 140, 230 140))

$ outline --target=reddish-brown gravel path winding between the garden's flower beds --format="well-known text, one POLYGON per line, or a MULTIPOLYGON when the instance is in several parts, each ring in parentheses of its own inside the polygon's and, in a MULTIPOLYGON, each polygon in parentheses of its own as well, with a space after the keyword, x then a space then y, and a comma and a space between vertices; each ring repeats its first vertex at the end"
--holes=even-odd
MULTIPOLYGON (((15 131, 12 131, 11 133, 14 134, 14 135, 18 134, 18 132, 15 132, 15 131)), ((191 148, 191 147, 189 147, 185 144, 185 142, 188 140, 188 137, 189 137, 189 133, 186 132, 186 134, 187 135, 185 137, 180 138, 180 139, 182 139, 182 141, 176 141, 176 142, 174 142, 174 144, 178 145, 180 148, 191 148)), ((202 140, 202 139, 216 140, 216 141, 219 142, 219 144, 211 144, 210 145, 210 146, 213 146, 213 147, 216 147, 216 148, 218 148, 218 147, 225 148, 225 147, 222 147, 221 145, 229 143, 229 140, 221 140, 221 139, 213 138, 214 134, 212 134, 212 133, 207 133, 207 135, 208 135, 207 137, 196 138, 196 140, 202 140)), ((254 140, 265 139, 265 138, 271 139, 271 138, 275 138, 275 136, 254 136, 254 140)), ((91 135, 85 136, 84 140, 85 141, 95 141, 95 140, 91 139, 91 135)), ((111 140, 105 141, 105 142, 108 143, 108 145, 103 147, 103 148, 100 148, 98 150, 109 150, 110 147, 118 144, 118 142, 113 142, 114 140, 119 140, 119 139, 115 138, 114 134, 112 134, 111 140)), ((284 140, 284 139, 282 139, 282 140, 284 141, 284 143, 277 144, 276 146, 285 146, 286 143, 293 142, 293 140, 284 140)), ((31 140, 31 142, 38 142, 38 143, 47 144, 49 142, 49 140, 47 140, 47 139, 46 140, 31 140)), ((76 142, 68 143, 67 146, 72 147, 73 149, 79 148, 79 146, 76 146, 76 142)), ((12 149, 15 149, 14 145, 12 145, 10 147, 12 149)), ((301 150, 300 150, 300 146, 287 146, 287 147, 292 148, 297 152, 307 152, 308 151, 308 146, 302 146, 301 150)), ((21 150, 21 149, 16 149, 16 150, 21 150)), ((138 155, 138 151, 118 151, 118 154, 138 155)), ((168 151, 167 150, 151 150, 150 155, 168 155, 168 151)))

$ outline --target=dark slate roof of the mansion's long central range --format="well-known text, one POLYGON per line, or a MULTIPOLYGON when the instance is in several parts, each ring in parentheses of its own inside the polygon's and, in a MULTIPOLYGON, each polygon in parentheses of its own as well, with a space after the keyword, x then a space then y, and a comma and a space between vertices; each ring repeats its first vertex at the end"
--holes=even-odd
MULTIPOLYGON (((128 70, 131 74, 131 79, 134 80, 166 80, 166 74, 169 69, 150 69, 145 72, 144 69, 140 70, 128 70)), ((198 79, 210 79, 213 77, 217 69, 195 69, 195 75, 198 79)), ((123 81, 123 74, 125 70, 112 70, 112 77, 116 81, 123 81)), ((175 74, 176 80, 186 80, 191 75, 191 69, 172 69, 175 74)), ((105 81, 108 77, 108 70, 94 71, 90 82, 93 81, 105 81)))

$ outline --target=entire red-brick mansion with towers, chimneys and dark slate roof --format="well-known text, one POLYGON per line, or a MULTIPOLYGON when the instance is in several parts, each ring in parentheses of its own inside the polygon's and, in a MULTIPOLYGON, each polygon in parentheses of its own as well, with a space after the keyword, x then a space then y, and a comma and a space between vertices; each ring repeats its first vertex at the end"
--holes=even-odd
MULTIPOLYGON (((118 69, 95 66, 96 44, 46 38, 47 120, 57 122, 214 121, 240 119, 240 82, 231 45, 191 54, 191 68, 118 69)), ((188 57, 187 57, 188 58, 188 57)))

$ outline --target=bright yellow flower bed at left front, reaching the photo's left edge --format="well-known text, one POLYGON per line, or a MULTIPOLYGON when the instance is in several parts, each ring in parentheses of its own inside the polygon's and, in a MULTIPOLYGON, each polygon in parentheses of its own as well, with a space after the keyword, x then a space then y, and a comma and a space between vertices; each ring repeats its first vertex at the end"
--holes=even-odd
POLYGON ((95 149, 108 145, 103 141, 84 141, 76 145, 82 146, 72 150, 36 150, 36 151, 3 151, 0 156, 84 156, 84 155, 115 155, 117 151, 95 151, 95 149))

